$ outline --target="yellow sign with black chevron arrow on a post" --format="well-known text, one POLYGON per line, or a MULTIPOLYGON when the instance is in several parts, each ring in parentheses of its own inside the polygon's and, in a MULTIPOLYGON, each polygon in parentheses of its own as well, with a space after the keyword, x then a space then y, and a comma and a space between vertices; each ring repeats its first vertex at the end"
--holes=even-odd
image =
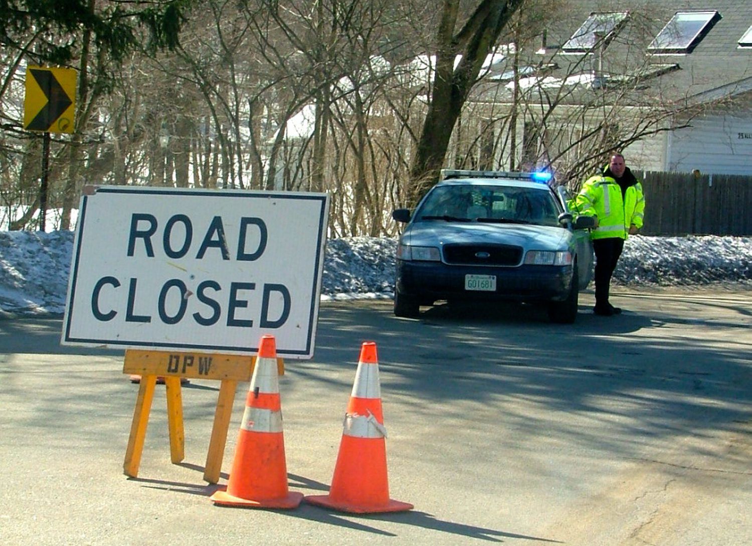
POLYGON ((73 132, 76 109, 73 68, 26 68, 23 128, 29 131, 73 132))

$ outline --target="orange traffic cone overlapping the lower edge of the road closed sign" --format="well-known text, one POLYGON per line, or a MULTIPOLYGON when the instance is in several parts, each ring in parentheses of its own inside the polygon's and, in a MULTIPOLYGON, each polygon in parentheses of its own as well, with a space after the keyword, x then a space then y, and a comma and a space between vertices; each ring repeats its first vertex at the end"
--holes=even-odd
POLYGON ((262 336, 227 488, 211 496, 216 505, 296 508, 303 498, 287 490, 276 357, 274 336, 262 336))

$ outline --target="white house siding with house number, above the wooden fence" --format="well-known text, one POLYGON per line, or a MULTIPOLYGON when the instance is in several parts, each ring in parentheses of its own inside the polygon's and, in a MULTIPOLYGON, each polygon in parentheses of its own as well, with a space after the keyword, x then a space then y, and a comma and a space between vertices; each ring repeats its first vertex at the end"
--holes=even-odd
POLYGON ((752 174, 752 114, 708 115, 692 125, 672 135, 669 171, 752 174))

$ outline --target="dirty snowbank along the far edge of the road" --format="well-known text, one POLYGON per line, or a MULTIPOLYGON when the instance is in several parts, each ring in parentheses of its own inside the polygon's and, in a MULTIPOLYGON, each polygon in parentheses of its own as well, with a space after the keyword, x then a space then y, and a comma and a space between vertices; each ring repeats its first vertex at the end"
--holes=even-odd
MULTIPOLYGON (((73 232, 0 232, 0 314, 62 314, 73 232)), ((326 245, 322 299, 390 298, 396 239, 326 245)), ((752 237, 630 237, 614 274, 626 286, 752 286, 752 237)))

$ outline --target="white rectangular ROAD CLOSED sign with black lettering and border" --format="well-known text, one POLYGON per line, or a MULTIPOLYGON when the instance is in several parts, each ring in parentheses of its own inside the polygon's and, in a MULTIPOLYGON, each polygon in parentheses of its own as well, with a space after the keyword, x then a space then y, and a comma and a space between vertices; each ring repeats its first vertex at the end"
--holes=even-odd
POLYGON ((81 198, 62 344, 314 352, 329 198, 97 187, 81 198))

